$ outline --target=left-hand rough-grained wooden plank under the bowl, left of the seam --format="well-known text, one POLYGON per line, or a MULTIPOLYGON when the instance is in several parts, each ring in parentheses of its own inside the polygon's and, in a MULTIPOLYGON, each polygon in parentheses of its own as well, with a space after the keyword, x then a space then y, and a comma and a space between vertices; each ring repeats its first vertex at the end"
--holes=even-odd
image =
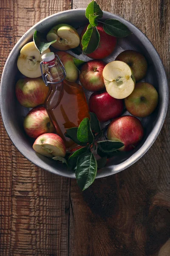
MULTIPOLYGON (((20 37, 69 0, 0 1, 0 75, 20 37)), ((68 255, 70 180, 37 168, 12 145, 0 118, 0 256, 68 255)))

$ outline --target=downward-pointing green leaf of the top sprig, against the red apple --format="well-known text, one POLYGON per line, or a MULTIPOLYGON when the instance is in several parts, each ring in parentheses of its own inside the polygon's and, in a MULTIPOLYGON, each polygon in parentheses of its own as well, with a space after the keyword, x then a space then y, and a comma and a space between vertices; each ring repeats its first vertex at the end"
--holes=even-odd
POLYGON ((82 50, 85 54, 94 52, 100 41, 100 35, 96 27, 88 25, 85 34, 82 37, 82 50))

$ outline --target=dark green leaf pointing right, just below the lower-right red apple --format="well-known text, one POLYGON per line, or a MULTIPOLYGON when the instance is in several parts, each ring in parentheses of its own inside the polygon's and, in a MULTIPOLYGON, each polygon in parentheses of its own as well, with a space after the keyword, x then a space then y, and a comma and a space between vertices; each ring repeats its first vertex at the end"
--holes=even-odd
POLYGON ((102 140, 98 141, 98 147, 102 152, 111 153, 119 148, 122 148, 124 144, 119 141, 102 140))

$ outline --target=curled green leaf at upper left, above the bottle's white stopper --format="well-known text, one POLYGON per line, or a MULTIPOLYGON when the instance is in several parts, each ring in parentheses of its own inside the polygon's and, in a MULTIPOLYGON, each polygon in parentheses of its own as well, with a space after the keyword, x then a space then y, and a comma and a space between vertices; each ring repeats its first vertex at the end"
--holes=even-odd
POLYGON ((33 36, 33 41, 34 41, 35 47, 39 50, 40 54, 42 54, 42 52, 48 49, 50 45, 55 43, 57 40, 48 42, 46 39, 46 35, 44 35, 41 32, 35 31, 33 36))

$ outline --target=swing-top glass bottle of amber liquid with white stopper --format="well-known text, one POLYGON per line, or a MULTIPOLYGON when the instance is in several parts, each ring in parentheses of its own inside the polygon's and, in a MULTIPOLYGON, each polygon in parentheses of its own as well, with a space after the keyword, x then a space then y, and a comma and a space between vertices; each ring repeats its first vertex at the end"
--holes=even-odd
POLYGON ((42 55, 42 60, 42 78, 50 87, 45 108, 67 151, 72 152, 80 146, 64 136, 65 129, 78 127, 83 118, 90 117, 85 94, 80 84, 65 80, 65 68, 54 52, 42 55))

